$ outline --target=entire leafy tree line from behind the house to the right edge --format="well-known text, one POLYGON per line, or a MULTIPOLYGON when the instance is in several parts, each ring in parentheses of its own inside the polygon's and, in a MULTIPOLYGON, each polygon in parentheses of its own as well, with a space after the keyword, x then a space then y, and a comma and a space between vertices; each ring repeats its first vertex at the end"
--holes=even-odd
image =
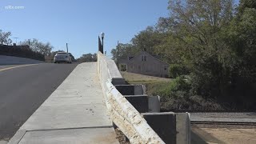
MULTIPOLYGON (((235 7, 233 0, 170 0, 168 10, 168 18, 120 45, 119 58, 142 50, 157 54, 177 65, 171 73, 189 72, 190 90, 181 90, 186 95, 255 109, 256 2, 241 0, 235 7)), ((117 49, 111 53, 115 60, 117 49)))

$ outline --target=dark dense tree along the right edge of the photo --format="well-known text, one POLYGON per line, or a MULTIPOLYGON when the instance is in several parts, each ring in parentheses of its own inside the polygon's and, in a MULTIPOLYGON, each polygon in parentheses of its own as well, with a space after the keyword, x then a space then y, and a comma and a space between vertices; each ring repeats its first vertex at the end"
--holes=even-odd
POLYGON ((236 56, 231 71, 233 89, 230 95, 240 105, 253 108, 256 104, 256 2, 241 1, 238 14, 226 30, 225 39, 236 56))

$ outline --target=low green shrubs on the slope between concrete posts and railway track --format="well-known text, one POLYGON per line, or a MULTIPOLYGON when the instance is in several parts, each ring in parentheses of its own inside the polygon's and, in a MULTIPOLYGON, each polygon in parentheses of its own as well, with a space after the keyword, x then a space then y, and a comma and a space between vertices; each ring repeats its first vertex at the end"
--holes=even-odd
POLYGON ((222 106, 211 99, 191 95, 190 82, 184 77, 177 77, 172 82, 149 83, 147 94, 159 95, 161 110, 223 110, 222 106))

